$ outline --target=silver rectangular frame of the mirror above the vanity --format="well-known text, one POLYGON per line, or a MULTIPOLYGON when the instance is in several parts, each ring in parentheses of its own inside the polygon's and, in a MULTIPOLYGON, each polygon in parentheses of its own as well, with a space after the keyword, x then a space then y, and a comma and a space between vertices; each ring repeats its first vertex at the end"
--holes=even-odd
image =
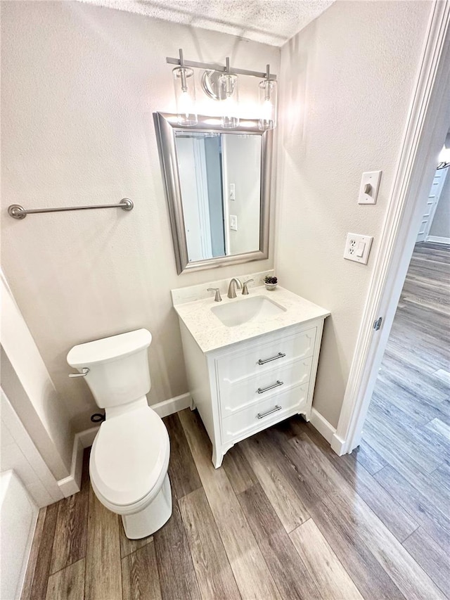
POLYGON ((177 115, 170 113, 153 113, 155 129, 160 151, 160 162, 165 180, 165 191, 169 205, 172 239, 174 242, 176 270, 178 274, 198 271, 200 269, 213 269, 226 267, 229 264, 264 260, 269 257, 269 215, 270 191, 272 170, 272 148, 274 132, 260 131, 257 119, 241 119, 236 129, 222 129, 220 117, 207 117, 198 115, 198 124, 195 127, 185 127, 178 124, 177 115), (245 254, 214 257, 207 260, 189 262, 188 245, 184 228, 183 205, 181 203, 181 186, 179 179, 178 162, 176 160, 176 146, 174 129, 186 129, 191 132, 220 132, 226 134, 252 134, 262 138, 261 145, 261 209, 259 211, 259 250, 245 254))

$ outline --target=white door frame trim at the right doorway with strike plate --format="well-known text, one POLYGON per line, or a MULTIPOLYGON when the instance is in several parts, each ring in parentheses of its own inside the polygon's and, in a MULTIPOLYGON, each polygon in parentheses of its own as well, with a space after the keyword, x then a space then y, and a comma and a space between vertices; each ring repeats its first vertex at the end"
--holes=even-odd
POLYGON ((449 65, 450 0, 434 0, 340 419, 331 441, 339 455, 352 452, 361 440, 419 219, 449 130, 449 65), (379 317, 383 326, 375 331, 379 317))

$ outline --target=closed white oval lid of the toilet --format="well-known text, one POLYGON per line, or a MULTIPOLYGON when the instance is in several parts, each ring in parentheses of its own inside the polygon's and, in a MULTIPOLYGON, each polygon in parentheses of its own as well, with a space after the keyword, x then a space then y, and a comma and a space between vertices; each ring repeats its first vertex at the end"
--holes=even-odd
POLYGON ((169 435, 150 407, 101 424, 89 471, 98 492, 112 504, 139 502, 162 480, 169 464, 169 435))

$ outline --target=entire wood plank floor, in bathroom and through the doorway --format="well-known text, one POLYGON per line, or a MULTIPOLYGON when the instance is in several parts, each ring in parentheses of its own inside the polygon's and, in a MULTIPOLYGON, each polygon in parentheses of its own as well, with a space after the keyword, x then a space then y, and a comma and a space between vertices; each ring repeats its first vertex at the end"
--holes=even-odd
POLYGON ((357 451, 295 417, 216 470, 198 414, 169 416, 174 511, 137 542, 86 452, 82 491, 39 514, 23 600, 450 598, 449 258, 416 247, 357 451))

